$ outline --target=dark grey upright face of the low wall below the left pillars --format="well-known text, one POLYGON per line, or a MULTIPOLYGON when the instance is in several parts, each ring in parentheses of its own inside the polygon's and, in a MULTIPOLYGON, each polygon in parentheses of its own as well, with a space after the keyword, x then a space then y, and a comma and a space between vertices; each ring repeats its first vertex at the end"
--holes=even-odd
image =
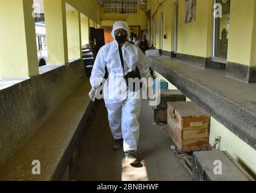
MULTIPOLYGON (((43 74, 0 90, 0 165, 51 115, 85 77, 82 60, 45 66, 43 74)), ((10 80, 9 80, 10 82, 10 80)))

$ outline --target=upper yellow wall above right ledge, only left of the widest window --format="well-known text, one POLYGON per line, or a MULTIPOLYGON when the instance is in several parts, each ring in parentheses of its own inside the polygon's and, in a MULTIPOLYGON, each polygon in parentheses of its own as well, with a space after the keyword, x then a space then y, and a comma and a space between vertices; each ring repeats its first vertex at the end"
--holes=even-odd
MULTIPOLYGON (((160 48, 161 12, 163 11, 163 49, 174 51, 174 4, 176 0, 150 0, 147 9, 151 9, 156 22, 156 48, 160 48), (159 6, 159 2, 162 5, 159 6), (158 9, 157 9, 158 8, 158 9)), ((185 24, 185 0, 179 0, 178 52, 182 54, 211 57, 212 0, 197 0, 196 21, 185 24)), ((153 44, 153 19, 151 21, 151 45, 153 44)))

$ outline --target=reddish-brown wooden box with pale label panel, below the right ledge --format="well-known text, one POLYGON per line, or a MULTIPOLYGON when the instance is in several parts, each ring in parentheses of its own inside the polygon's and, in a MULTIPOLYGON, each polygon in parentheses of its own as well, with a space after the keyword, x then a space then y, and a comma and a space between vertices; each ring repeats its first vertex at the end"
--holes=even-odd
POLYGON ((209 148, 211 116, 192 102, 168 103, 166 130, 180 151, 200 151, 209 148))

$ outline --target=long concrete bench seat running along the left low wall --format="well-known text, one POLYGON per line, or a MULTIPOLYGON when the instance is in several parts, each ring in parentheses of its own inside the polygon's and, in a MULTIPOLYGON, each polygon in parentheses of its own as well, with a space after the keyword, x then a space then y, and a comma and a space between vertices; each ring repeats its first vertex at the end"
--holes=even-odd
POLYGON ((61 180, 85 122, 93 109, 88 79, 52 113, 16 153, 0 167, 0 180, 61 180), (41 175, 33 175, 33 160, 41 162, 41 175))

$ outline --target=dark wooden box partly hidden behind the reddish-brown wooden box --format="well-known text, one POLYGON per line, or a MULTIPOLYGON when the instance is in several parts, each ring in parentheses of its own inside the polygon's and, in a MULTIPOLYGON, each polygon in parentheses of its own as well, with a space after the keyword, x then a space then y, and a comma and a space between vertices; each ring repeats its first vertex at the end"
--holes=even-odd
POLYGON ((171 101, 186 101, 186 96, 179 90, 161 90, 160 104, 155 106, 154 119, 156 122, 167 122, 167 103, 171 101))

